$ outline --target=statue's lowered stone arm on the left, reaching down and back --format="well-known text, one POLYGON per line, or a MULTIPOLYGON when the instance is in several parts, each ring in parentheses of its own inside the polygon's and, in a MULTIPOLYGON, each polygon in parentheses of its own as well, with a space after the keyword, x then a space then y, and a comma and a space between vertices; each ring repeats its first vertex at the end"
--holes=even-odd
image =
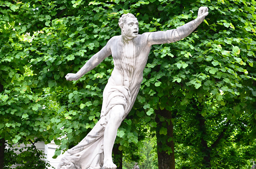
POLYGON ((107 43, 106 46, 104 46, 98 53, 93 55, 85 64, 84 66, 77 72, 77 73, 68 73, 65 77, 67 80, 78 80, 84 74, 95 68, 102 62, 106 57, 111 55, 111 50, 109 47, 109 43, 107 43))

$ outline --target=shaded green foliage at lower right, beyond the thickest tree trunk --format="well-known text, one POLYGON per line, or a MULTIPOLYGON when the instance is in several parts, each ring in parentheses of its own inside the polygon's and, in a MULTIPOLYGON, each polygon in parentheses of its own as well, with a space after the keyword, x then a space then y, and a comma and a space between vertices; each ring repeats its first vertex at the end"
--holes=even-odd
MULTIPOLYGON (((174 111, 176 132, 176 164, 178 168, 248 168, 254 143, 244 140, 247 135, 246 114, 229 120, 230 107, 212 104, 212 98, 204 104, 193 98, 186 109, 174 111), (205 163, 208 158, 210 164, 205 163), (242 159, 241 159, 242 157, 242 159)), ((228 104, 227 104, 228 105, 228 104)))

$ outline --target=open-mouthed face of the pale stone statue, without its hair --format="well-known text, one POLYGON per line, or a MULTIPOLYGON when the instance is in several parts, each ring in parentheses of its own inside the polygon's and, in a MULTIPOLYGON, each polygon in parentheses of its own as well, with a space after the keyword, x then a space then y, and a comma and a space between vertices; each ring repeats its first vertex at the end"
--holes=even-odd
POLYGON ((136 18, 128 18, 121 28, 122 34, 129 39, 136 38, 139 33, 139 22, 136 18))

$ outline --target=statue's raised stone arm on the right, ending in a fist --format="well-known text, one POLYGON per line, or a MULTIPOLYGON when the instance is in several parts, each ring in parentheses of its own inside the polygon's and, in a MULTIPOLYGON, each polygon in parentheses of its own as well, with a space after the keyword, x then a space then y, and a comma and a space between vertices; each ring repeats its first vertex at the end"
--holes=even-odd
POLYGON ((204 21, 204 17, 207 15, 208 8, 200 7, 198 10, 197 18, 195 20, 192 20, 176 29, 150 32, 148 36, 148 42, 151 45, 154 45, 179 41, 192 33, 196 29, 196 27, 204 21))

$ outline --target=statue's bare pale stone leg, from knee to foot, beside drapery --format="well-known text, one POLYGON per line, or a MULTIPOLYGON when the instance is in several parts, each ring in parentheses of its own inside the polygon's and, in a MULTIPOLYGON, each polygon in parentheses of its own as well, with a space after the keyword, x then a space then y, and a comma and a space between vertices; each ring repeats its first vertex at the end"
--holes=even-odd
POLYGON ((104 169, 113 169, 116 168, 116 165, 112 160, 112 149, 115 143, 117 129, 121 125, 124 116, 124 107, 123 105, 116 105, 110 110, 110 117, 104 131, 104 169))

